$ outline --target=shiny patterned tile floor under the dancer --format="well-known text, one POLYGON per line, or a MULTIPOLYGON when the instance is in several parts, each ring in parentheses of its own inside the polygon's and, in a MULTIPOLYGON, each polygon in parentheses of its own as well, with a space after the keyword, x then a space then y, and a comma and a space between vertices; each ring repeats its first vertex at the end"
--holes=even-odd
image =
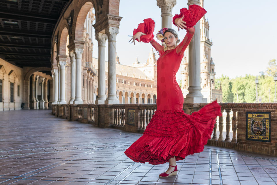
POLYGON ((276 185, 277 158, 206 146, 168 164, 135 163, 123 153, 141 134, 65 121, 49 110, 0 112, 0 184, 276 185))

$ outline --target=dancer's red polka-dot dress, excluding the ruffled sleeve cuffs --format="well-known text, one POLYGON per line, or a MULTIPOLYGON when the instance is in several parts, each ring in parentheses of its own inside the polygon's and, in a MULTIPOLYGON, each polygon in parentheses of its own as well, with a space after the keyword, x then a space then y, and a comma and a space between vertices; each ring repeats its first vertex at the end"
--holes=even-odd
POLYGON ((135 162, 164 164, 173 156, 182 160, 203 151, 213 132, 216 116, 221 115, 216 101, 191 115, 183 111, 184 97, 175 75, 193 34, 194 28, 188 29, 182 42, 166 51, 154 39, 150 41, 160 55, 157 60, 157 110, 143 136, 125 151, 135 162))

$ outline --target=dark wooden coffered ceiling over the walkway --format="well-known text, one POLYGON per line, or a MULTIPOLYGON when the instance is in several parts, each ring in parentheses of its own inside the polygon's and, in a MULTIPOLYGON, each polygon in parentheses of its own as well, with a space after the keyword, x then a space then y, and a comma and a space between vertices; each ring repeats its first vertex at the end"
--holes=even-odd
POLYGON ((0 58, 19 67, 51 67, 51 37, 69 0, 1 0, 0 58))

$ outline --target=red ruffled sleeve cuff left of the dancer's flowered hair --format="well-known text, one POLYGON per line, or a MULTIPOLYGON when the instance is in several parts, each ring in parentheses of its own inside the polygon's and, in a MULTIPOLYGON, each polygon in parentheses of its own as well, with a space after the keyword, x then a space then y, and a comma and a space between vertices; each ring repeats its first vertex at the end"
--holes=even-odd
MULTIPOLYGON (((135 35, 137 32, 143 32, 146 35, 141 36, 142 42, 150 42, 154 38, 153 32, 155 29, 155 22, 151 18, 147 18, 143 20, 144 23, 140 23, 137 29, 134 29, 133 35, 135 35)), ((136 39, 139 41, 138 39, 136 39)))

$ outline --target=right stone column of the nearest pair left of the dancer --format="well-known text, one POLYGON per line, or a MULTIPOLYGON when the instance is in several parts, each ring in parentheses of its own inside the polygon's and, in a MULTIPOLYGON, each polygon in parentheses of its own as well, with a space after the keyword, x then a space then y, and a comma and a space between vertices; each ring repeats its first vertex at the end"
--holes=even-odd
POLYGON ((109 27, 106 29, 108 33, 108 47, 109 47, 109 60, 108 60, 108 98, 105 101, 105 104, 115 104, 119 103, 119 100, 116 98, 116 75, 115 75, 115 43, 116 35, 118 34, 118 28, 109 27))

